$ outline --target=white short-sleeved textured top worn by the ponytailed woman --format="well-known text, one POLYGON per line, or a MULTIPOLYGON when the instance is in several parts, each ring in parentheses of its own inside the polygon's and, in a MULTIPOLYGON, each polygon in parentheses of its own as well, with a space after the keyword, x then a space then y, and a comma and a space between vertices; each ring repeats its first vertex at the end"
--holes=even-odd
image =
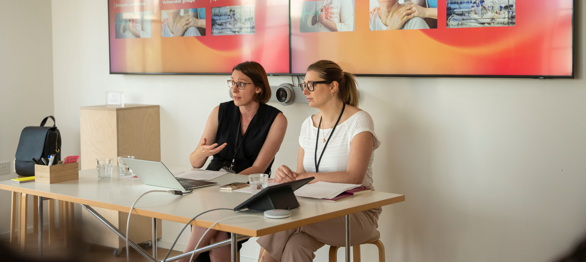
MULTIPOLYGON (((318 128, 314 127, 314 123, 308 117, 301 125, 301 134, 299 134, 299 145, 304 149, 305 155, 303 158, 303 166, 306 172, 315 172, 315 139, 318 132, 318 128)), ((328 131, 332 128, 323 130, 326 134, 326 141, 329 137, 328 131)), ((380 146, 379 138, 374 134, 374 122, 369 113, 365 111, 358 111, 342 124, 336 127, 332 138, 328 142, 325 152, 323 152, 322 161, 319 163, 319 172, 339 172, 346 171, 348 166, 348 157, 350 156, 350 142, 355 135, 361 132, 369 131, 374 137, 374 148, 373 151, 380 146)), ((323 141, 322 130, 319 130, 319 141, 318 141, 318 161, 319 155, 322 153, 323 146, 326 144, 323 141)), ((372 185, 372 162, 374 161, 374 152, 370 155, 370 162, 366 169, 366 175, 362 181, 362 185, 372 185)))

